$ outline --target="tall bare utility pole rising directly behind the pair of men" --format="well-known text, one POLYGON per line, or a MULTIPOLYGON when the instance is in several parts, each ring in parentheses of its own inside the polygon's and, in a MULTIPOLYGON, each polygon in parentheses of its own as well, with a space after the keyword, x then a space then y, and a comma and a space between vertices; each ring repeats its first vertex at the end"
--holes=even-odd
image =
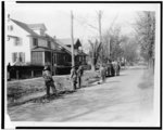
POLYGON ((74 25, 74 15, 73 15, 73 11, 71 11, 71 35, 72 35, 72 66, 75 65, 74 62, 74 31, 73 31, 73 25, 74 25))

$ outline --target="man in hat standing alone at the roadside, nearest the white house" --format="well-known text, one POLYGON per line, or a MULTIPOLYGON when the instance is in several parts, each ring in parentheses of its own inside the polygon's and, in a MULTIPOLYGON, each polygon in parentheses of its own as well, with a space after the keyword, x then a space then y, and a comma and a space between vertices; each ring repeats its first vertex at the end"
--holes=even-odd
POLYGON ((50 73, 49 66, 45 66, 42 72, 42 77, 45 79, 45 84, 47 87, 47 96, 50 95, 50 87, 52 88, 53 93, 57 95, 57 89, 54 86, 54 80, 52 78, 52 75, 50 73))

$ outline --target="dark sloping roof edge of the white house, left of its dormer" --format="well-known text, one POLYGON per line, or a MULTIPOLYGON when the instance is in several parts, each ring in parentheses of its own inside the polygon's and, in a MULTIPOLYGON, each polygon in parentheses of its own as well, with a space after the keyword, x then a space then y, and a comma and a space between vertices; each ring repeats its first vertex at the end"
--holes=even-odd
POLYGON ((15 21, 15 20, 12 20, 12 18, 11 18, 11 21, 12 21, 13 23, 15 23, 16 25, 18 25, 20 27, 22 27, 22 28, 23 28, 24 30, 26 30, 27 32, 29 32, 30 35, 38 36, 33 29, 30 29, 30 28, 28 27, 27 24, 22 23, 22 22, 18 22, 18 21, 15 21))

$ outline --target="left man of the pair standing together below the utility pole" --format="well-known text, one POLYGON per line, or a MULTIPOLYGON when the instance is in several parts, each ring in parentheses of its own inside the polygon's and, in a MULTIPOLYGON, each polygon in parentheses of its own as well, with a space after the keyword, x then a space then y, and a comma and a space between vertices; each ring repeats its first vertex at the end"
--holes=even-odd
POLYGON ((72 66, 72 69, 71 69, 71 80, 72 80, 73 89, 76 90, 77 73, 76 73, 76 69, 75 69, 75 65, 72 66))

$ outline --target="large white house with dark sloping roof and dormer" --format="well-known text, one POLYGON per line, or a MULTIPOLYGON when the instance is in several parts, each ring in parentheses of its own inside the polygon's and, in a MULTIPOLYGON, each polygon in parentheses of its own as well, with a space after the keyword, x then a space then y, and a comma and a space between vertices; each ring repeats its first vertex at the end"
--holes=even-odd
MULTIPOLYGON (((25 65, 29 63, 45 65, 47 61, 47 58, 43 58, 46 57, 46 52, 60 50, 59 46, 54 43, 54 39, 46 34, 47 28, 43 24, 25 24, 9 18, 7 26, 7 64, 14 65, 21 63, 25 65), (39 51, 36 51, 38 48, 39 51), (40 52, 41 56, 38 56, 38 53, 36 54, 35 52, 40 52)), ((47 62, 51 62, 51 60, 47 62)))

